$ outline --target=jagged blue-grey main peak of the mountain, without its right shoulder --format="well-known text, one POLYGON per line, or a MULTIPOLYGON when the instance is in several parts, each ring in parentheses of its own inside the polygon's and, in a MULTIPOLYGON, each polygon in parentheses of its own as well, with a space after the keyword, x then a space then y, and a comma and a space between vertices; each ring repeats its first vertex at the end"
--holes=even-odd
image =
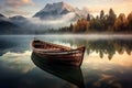
POLYGON ((75 9, 70 4, 65 2, 47 3, 45 8, 38 11, 34 16, 45 19, 59 16, 62 14, 67 14, 74 11, 75 9))

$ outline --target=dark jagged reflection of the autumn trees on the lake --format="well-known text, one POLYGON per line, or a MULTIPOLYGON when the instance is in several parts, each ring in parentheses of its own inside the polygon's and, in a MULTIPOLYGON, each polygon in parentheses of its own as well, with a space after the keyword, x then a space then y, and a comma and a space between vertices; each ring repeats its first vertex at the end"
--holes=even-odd
MULTIPOLYGON (((53 42, 53 40, 51 40, 53 42)), ((109 59, 112 59, 116 52, 122 55, 124 52, 131 55, 132 40, 131 38, 110 38, 110 40, 87 40, 87 38, 63 38, 59 43, 69 44, 74 47, 81 45, 86 46, 86 53, 89 55, 96 52, 100 58, 107 54, 109 59)))

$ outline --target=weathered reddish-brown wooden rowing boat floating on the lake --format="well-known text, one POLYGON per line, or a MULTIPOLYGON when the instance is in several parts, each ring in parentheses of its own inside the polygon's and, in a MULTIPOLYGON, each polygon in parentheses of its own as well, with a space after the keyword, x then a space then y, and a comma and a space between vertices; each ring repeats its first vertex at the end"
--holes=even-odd
POLYGON ((84 58, 85 47, 73 50, 70 47, 47 43, 40 40, 32 40, 31 47, 41 58, 52 63, 80 66, 84 58))

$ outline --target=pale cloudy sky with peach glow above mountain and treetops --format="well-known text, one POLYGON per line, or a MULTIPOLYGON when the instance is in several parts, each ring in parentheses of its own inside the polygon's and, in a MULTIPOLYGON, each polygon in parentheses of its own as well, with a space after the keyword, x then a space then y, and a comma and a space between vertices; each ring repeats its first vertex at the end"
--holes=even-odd
POLYGON ((132 12, 132 0, 0 0, 0 13, 6 16, 23 15, 33 16, 37 11, 42 10, 46 3, 64 1, 75 8, 88 8, 89 13, 97 15, 100 10, 106 13, 112 8, 119 15, 132 12))

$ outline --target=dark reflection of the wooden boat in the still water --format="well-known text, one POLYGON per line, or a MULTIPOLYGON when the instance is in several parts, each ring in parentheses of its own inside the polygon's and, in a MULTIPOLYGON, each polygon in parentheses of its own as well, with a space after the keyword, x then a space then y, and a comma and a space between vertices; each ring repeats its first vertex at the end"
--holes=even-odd
POLYGON ((80 67, 54 64, 38 57, 34 53, 32 53, 31 59, 37 67, 40 67, 44 72, 67 80, 68 82, 74 84, 79 88, 85 88, 80 67))

